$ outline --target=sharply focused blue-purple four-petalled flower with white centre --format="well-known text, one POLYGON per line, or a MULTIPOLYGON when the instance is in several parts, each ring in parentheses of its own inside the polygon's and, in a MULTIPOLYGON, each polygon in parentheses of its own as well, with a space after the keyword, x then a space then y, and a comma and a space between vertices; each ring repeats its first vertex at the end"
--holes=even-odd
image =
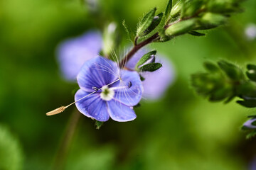
POLYGON ((82 114, 101 122, 136 118, 132 106, 139 103, 143 92, 137 72, 121 70, 116 62, 95 57, 85 62, 77 79, 80 89, 75 105, 82 114))

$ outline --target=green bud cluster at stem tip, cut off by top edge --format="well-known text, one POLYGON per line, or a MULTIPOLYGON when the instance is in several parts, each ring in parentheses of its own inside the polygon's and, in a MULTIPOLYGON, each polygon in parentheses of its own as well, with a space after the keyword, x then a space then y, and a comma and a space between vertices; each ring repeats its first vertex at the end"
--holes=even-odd
MULTIPOLYGON (((242 11, 237 0, 185 0, 174 4, 166 13, 165 36, 170 39, 189 33, 201 36, 198 30, 218 27, 227 21, 231 13, 242 11)), ((166 38, 165 38, 166 39, 166 38)))

